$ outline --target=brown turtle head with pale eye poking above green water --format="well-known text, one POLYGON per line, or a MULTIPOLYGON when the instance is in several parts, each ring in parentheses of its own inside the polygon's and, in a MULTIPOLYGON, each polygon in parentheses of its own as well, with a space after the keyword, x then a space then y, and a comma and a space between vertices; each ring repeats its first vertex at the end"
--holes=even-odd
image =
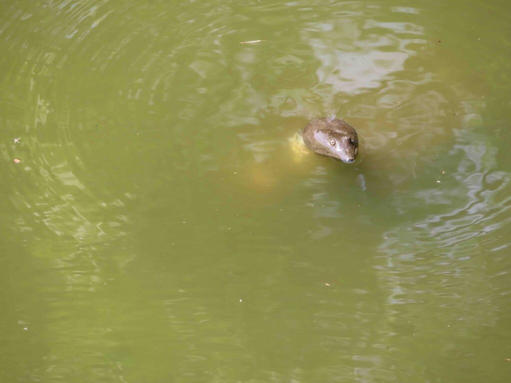
POLYGON ((313 119, 298 135, 309 149, 322 156, 346 163, 355 162, 358 154, 357 131, 341 119, 313 119))

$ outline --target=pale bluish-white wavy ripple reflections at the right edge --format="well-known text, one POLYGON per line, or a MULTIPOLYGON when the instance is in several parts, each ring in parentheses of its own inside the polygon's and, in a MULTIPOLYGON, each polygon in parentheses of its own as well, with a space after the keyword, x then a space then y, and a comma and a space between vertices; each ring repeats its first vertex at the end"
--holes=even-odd
POLYGON ((407 222, 406 228, 400 226, 387 232, 382 251, 399 254, 407 260, 419 255, 438 254, 454 260, 463 257, 471 243, 476 245, 477 237, 506 226, 508 219, 503 217, 509 209, 506 196, 509 176, 499 170, 498 149, 492 143, 493 137, 471 128, 474 115, 469 113, 468 117, 466 128, 454 132, 456 142, 449 152, 450 162, 443 161, 445 166, 453 169, 452 174, 445 178, 439 175, 435 187, 416 190, 412 196, 397 196, 393 202, 403 206, 411 205, 411 200, 415 200, 438 211, 424 219, 407 222), (402 241, 402 235, 408 240, 402 241), (431 242, 429 238, 435 238, 435 241, 431 242), (410 242, 413 247, 407 250, 410 242))

